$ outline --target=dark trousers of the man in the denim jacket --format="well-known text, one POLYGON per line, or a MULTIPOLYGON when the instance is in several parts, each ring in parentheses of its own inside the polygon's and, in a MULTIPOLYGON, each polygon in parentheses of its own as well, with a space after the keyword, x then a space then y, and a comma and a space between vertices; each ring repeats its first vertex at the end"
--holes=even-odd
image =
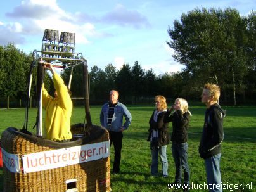
POLYGON ((120 161, 121 161, 121 150, 122 150, 122 132, 114 132, 110 131, 110 146, 113 143, 115 150, 114 164, 113 164, 113 172, 120 172, 120 161))

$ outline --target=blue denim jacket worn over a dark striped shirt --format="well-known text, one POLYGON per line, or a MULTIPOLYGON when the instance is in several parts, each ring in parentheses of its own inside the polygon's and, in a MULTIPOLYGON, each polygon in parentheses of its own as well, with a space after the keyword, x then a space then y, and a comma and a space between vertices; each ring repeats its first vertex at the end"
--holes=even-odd
POLYGON ((108 125, 108 109, 109 109, 108 103, 105 103, 101 108, 101 113, 99 117, 101 126, 108 129, 108 131, 115 131, 115 132, 119 132, 122 126, 124 127, 124 129, 128 129, 132 121, 132 115, 127 109, 127 107, 124 104, 119 103, 117 101, 117 105, 114 108, 114 115, 112 118, 111 126, 108 125), (123 125, 123 117, 125 117, 124 125, 123 125))

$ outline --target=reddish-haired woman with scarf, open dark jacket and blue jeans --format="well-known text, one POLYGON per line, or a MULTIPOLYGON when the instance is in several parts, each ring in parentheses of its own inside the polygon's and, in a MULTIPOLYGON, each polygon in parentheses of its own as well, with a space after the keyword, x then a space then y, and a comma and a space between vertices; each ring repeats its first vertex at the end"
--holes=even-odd
POLYGON ((168 176, 168 160, 166 155, 167 144, 170 143, 168 123, 163 122, 167 112, 166 99, 163 96, 155 96, 156 108, 150 118, 150 132, 148 141, 152 155, 151 175, 158 175, 158 154, 162 162, 162 176, 168 176))

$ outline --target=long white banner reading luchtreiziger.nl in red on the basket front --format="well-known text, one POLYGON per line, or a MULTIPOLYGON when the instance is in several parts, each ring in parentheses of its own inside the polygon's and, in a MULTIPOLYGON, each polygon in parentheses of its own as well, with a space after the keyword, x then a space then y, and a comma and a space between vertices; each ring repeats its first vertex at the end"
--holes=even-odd
POLYGON ((65 167, 110 156, 110 141, 22 155, 23 172, 65 167))

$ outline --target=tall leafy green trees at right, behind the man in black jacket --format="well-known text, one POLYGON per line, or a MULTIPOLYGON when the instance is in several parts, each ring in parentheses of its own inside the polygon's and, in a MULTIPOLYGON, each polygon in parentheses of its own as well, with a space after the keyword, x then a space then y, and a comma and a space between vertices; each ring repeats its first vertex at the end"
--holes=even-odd
POLYGON ((233 105, 255 101, 256 11, 241 16, 235 9, 196 8, 169 27, 174 59, 185 65, 188 91, 212 81, 233 105))

